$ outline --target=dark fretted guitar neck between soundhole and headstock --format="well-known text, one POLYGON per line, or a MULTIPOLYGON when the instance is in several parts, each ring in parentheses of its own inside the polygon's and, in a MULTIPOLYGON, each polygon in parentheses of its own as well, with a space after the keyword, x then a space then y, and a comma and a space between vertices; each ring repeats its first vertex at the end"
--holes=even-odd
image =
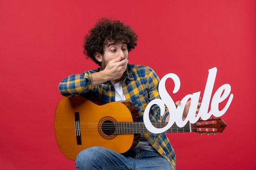
MULTIPOLYGON (((114 122, 115 132, 114 134, 140 134, 151 133, 147 130, 144 122, 114 122)), ((164 128, 168 123, 153 122, 152 125, 156 128, 164 128)), ((191 132, 191 124, 187 123, 184 127, 180 128, 175 123, 169 128, 167 133, 175 132, 191 132)))

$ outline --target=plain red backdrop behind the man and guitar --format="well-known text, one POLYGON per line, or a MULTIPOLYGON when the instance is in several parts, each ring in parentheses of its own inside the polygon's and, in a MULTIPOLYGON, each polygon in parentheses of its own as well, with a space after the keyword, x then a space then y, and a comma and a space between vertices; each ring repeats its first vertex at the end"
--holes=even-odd
POLYGON ((101 17, 124 21, 139 34, 130 63, 150 66, 160 78, 180 77, 175 95, 171 81, 166 84, 174 100, 203 93, 215 66, 213 93, 231 85, 223 133, 168 134, 177 170, 256 169, 255 0, 1 0, 1 169, 75 170, 54 136, 58 83, 97 67, 85 60, 82 46, 101 17))

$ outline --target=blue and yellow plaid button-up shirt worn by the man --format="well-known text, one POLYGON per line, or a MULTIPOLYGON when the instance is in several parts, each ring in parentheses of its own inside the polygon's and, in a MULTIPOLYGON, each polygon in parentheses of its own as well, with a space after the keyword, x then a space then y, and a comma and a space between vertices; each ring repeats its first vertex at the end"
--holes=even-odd
MULTIPOLYGON (((59 91, 63 96, 72 97, 82 93, 90 93, 104 103, 115 102, 115 88, 112 82, 108 81, 98 86, 92 87, 91 74, 101 71, 101 68, 85 71, 84 74, 70 75, 59 84, 59 91)), ((123 80, 123 91, 126 100, 132 102, 139 112, 140 121, 143 121, 143 113, 147 104, 156 98, 160 98, 158 93, 159 77, 153 69, 128 64, 125 79, 123 80)), ((153 106, 150 110, 151 122, 162 122, 168 115, 166 110, 164 116, 160 116, 158 106, 153 106)), ((147 134, 144 136, 150 144, 166 158, 175 169, 175 153, 165 133, 147 134)))

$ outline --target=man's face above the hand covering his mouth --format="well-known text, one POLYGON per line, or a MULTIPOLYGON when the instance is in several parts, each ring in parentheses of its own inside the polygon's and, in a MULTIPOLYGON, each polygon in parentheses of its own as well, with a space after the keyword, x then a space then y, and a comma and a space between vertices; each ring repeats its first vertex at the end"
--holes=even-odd
POLYGON ((102 68, 106 68, 108 62, 110 60, 114 60, 117 57, 121 57, 124 59, 125 57, 128 59, 128 50, 126 42, 110 42, 104 45, 103 47, 104 54, 102 54, 102 68))

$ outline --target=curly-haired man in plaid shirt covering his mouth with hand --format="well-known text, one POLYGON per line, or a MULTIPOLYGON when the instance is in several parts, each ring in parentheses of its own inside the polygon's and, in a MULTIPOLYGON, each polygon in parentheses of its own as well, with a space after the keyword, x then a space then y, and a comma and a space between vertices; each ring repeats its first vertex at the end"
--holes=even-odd
MULTIPOLYGON (((59 84, 67 97, 90 95, 104 103, 128 100, 143 121, 144 109, 156 98, 159 77, 147 66, 128 64, 128 52, 137 46, 137 34, 120 21, 102 18, 85 36, 84 53, 100 68, 70 75, 59 84)), ((176 102, 179 104, 180 102, 176 102)), ((189 108, 186 104, 184 117, 189 108)), ((121 114, 121 113, 120 113, 121 114)), ((160 115, 158 106, 150 110, 150 121, 168 121, 168 110, 160 115)), ((165 133, 141 134, 139 144, 119 154, 101 147, 85 149, 76 157, 77 170, 175 170, 175 153, 165 133)))

